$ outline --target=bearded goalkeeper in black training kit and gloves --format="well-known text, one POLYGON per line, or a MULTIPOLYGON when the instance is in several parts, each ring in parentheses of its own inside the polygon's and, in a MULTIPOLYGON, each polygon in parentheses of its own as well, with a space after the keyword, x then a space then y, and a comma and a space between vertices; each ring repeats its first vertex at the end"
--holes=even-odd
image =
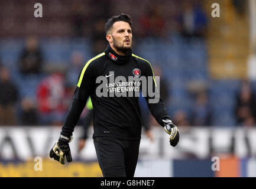
MULTIPOLYGON (((96 82, 99 76, 105 76, 108 79, 107 85, 114 86, 111 89, 116 87, 116 90, 118 84, 132 85, 134 82, 111 83, 110 77, 114 74, 126 79, 129 76, 138 78, 145 76, 154 79, 150 63, 132 54, 131 25, 131 17, 127 14, 110 18, 105 25, 106 40, 109 42, 106 50, 90 59, 82 67, 59 141, 50 151, 50 157, 61 164, 64 164, 65 157, 67 162, 72 161, 69 142, 72 141, 74 126, 90 96, 93 105, 93 141, 103 177, 134 177, 141 139, 141 112, 138 96, 99 97, 96 92, 100 85, 96 82)), ((150 85, 155 89, 156 84, 154 79, 150 85)), ((108 91, 109 93, 111 92, 108 91)), ((152 115, 170 135, 170 145, 176 146, 179 142, 179 131, 171 122, 163 100, 150 103, 151 97, 145 94, 144 96, 152 115)))

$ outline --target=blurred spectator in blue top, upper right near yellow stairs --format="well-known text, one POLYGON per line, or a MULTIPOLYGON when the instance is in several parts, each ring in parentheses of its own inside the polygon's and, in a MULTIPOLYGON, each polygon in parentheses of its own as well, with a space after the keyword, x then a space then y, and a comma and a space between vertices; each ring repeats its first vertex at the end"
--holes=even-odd
POLYGON ((184 37, 204 37, 208 19, 202 6, 191 1, 183 1, 183 9, 178 16, 181 33, 184 37))

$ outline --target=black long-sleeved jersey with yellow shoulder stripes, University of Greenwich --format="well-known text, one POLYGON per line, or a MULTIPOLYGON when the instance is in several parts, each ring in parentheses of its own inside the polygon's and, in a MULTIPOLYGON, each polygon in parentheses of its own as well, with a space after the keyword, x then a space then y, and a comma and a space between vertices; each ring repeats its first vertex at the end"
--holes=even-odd
MULTIPOLYGON (((142 76, 151 76, 153 80, 149 85, 155 89, 153 69, 147 60, 135 56, 131 51, 125 56, 119 56, 108 44, 103 53, 90 59, 82 67, 61 135, 72 135, 90 96, 93 105, 93 138, 111 136, 127 140, 140 139, 141 112, 138 96, 128 93, 135 94, 145 84, 131 82, 129 78, 140 79, 142 76), (106 83, 101 79, 105 79, 106 83), (120 93, 127 95, 115 95, 120 93)), ((157 103, 149 103, 152 97, 147 94, 144 96, 150 112, 157 122, 164 126, 162 119, 170 117, 163 101, 159 99, 157 103)))

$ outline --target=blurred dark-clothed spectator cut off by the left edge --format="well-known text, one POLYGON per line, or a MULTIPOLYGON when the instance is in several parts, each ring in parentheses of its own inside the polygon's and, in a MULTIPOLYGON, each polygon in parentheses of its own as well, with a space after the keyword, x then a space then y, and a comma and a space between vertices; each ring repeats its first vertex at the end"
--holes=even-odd
POLYGON ((0 125, 17 124, 15 104, 18 100, 17 86, 10 80, 9 69, 0 69, 0 125))

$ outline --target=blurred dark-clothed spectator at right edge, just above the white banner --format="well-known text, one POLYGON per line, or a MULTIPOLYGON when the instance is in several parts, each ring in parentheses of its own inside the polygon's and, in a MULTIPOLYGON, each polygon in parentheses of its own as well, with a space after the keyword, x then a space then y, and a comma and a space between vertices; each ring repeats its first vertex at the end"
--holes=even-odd
POLYGON ((250 83, 245 80, 236 97, 235 116, 237 125, 256 125, 256 101, 250 83))

